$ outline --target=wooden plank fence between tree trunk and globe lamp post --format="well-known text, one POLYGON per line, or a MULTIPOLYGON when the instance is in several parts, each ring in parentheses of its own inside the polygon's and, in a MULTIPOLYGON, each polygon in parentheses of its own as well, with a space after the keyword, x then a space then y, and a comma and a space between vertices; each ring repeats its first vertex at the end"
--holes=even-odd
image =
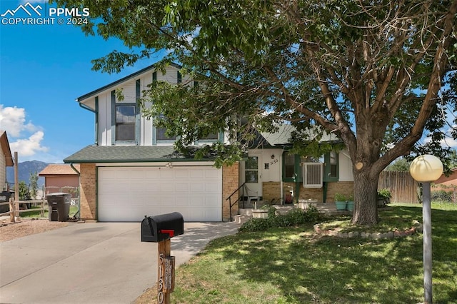
POLYGON ((378 189, 387 188, 391 191, 392 203, 419 203, 418 183, 409 172, 382 171, 379 176, 378 189))

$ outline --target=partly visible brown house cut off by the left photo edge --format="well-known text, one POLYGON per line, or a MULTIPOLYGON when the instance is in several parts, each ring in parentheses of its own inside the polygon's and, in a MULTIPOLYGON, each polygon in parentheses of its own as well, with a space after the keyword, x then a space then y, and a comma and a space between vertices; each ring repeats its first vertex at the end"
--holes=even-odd
MULTIPOLYGON (((8 181, 6 181, 6 167, 14 166, 13 156, 11 156, 11 149, 9 148, 8 136, 6 131, 0 130, 0 202, 9 200, 11 193, 9 193, 8 181)), ((9 206, 0 206, 0 213, 8 212, 9 206)))

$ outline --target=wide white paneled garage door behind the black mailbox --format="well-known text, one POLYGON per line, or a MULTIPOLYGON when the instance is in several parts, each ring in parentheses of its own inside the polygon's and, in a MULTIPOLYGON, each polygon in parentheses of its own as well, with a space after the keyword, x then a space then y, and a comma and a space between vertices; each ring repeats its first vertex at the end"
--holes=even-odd
POLYGON ((222 221, 222 171, 214 167, 99 168, 99 221, 141 221, 178 211, 222 221))

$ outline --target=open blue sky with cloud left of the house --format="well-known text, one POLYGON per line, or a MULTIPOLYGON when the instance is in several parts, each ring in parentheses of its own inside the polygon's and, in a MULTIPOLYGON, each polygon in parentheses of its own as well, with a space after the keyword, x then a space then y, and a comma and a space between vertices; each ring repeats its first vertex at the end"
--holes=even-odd
MULTIPOLYGON (((26 2, 1 0, 0 14, 26 2)), ((29 1, 34 7, 39 4, 41 11, 49 11, 44 2, 29 1)), ((23 11, 17 11, 17 16, 27 17, 23 11)), ((18 152, 19 162, 62 163, 93 144, 94 113, 79 107, 75 99, 159 60, 141 61, 120 74, 91 71, 92 59, 115 49, 128 51, 119 40, 85 36, 76 26, 2 21, 0 129, 6 130, 11 152, 18 152)))

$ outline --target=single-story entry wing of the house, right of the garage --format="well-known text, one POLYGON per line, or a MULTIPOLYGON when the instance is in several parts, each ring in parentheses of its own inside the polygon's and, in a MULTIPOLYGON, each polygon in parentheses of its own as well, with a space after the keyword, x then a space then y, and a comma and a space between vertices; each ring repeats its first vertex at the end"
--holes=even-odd
MULTIPOLYGON (((336 193, 351 195, 353 173, 348 152, 332 151, 319 159, 293 154, 289 152, 293 130, 284 124, 276 133, 260 133, 247 160, 240 163, 240 183, 271 203, 292 203, 291 199, 334 202, 336 193)), ((340 142, 332 133, 320 141, 340 142)))

